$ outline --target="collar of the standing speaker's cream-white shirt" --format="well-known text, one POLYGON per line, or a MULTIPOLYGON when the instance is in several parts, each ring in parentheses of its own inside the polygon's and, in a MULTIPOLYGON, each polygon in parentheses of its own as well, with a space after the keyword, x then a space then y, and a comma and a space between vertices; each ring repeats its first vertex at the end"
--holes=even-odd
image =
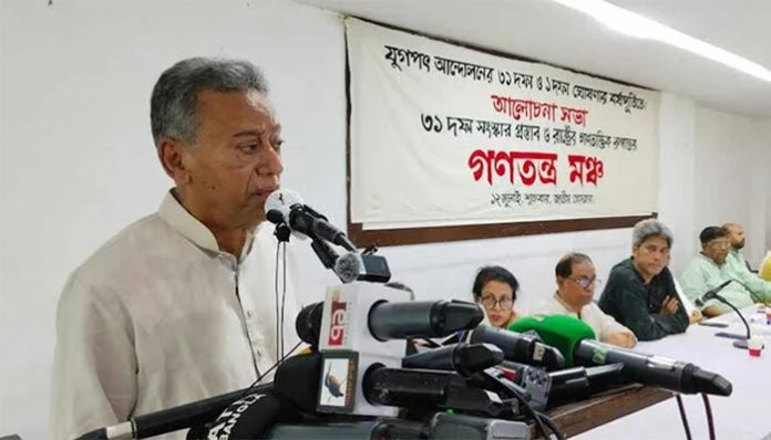
MULTIPOLYGON (((185 207, 183 207, 176 197, 174 197, 173 190, 166 192, 163 202, 161 202, 161 208, 158 208, 158 214, 168 224, 171 224, 175 231, 179 232, 184 238, 192 241, 198 248, 212 252, 220 252, 219 244, 217 243, 217 239, 214 237, 214 233, 212 233, 212 231, 204 223, 202 223, 201 220, 187 212, 185 207)), ((256 232, 257 229, 247 234, 240 255, 241 260, 251 250, 251 244, 256 232)))

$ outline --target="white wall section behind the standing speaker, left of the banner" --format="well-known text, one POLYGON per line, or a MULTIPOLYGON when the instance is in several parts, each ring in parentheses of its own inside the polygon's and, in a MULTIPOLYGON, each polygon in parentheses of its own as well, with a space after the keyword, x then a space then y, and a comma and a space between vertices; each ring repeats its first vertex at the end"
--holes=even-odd
MULTIPOLYGON (((338 224, 346 212, 339 17, 287 1, 47 3, 0 3, 0 437, 25 439, 48 438, 65 277, 169 187, 148 116, 164 69, 198 54, 261 65, 287 140, 286 185, 338 224)), ((305 285, 331 283, 307 266, 305 285)))

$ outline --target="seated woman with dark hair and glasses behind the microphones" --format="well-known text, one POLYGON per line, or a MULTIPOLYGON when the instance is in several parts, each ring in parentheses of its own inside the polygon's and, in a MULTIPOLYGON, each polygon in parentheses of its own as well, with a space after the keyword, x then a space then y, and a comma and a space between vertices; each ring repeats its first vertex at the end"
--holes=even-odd
POLYGON ((472 287, 474 301, 482 305, 492 326, 508 328, 508 325, 518 318, 514 311, 518 287, 516 277, 498 265, 481 268, 476 273, 472 287))

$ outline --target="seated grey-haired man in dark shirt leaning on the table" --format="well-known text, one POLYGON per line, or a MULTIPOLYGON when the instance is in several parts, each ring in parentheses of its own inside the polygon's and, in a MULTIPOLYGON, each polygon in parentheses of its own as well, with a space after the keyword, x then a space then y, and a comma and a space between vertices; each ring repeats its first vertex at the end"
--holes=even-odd
POLYGON ((688 314, 677 300, 667 268, 672 234, 658 220, 635 224, 631 258, 610 270, 599 308, 626 325, 639 341, 660 339, 688 328, 688 314))

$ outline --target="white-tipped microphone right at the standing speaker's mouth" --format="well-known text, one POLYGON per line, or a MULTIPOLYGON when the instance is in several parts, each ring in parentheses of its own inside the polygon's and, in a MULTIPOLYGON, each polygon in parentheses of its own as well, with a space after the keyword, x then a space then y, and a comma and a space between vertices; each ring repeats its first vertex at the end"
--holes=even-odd
POLYGON ((326 217, 304 205, 300 195, 290 189, 280 188, 271 192, 265 201, 265 212, 266 218, 273 223, 284 221, 295 232, 311 239, 322 239, 356 252, 356 245, 342 231, 331 226, 326 217))

